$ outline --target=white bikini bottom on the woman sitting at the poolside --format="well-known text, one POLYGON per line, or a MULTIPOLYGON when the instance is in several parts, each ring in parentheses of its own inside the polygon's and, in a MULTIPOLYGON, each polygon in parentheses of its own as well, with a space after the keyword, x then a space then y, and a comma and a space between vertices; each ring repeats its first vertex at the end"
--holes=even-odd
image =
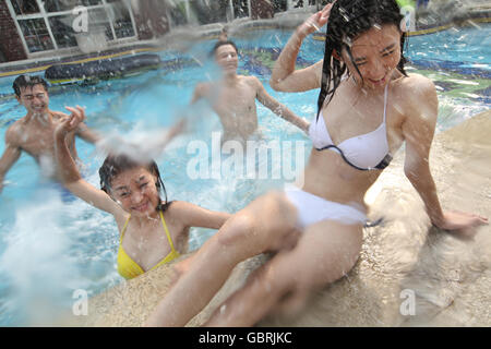
POLYGON ((363 212, 350 205, 327 201, 295 185, 285 188, 285 194, 295 207, 297 207, 297 226, 300 229, 325 219, 349 225, 364 225, 367 222, 367 216, 363 212))

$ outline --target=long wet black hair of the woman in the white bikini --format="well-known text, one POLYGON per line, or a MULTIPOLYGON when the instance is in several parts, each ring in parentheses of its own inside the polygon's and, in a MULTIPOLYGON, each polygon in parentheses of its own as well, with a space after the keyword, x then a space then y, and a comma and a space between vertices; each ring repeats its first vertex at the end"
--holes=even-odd
MULTIPOLYGON (((337 0, 334 3, 331 9, 325 37, 322 83, 318 99, 318 119, 325 98, 330 97, 327 103, 333 99, 334 93, 347 70, 342 60, 333 57, 333 52, 340 55, 343 49, 346 49, 355 69, 360 74, 352 60, 350 43, 374 25, 394 24, 399 28, 403 19, 404 15, 400 14, 400 9, 395 0, 337 0)), ((405 41, 406 33, 403 32, 400 36, 400 60, 397 69, 407 76, 404 69, 406 58, 403 55, 405 41)))

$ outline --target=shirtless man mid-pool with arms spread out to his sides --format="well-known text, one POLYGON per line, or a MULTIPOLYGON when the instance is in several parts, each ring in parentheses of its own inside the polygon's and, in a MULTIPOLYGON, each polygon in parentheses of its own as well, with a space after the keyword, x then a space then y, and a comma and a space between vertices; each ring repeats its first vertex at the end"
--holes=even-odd
POLYGON ((223 77, 217 82, 197 84, 191 104, 200 98, 209 101, 224 128, 223 142, 247 141, 258 130, 255 99, 307 132, 309 122, 270 96, 258 77, 237 74, 238 50, 232 41, 218 41, 213 48, 213 55, 223 70, 223 77))

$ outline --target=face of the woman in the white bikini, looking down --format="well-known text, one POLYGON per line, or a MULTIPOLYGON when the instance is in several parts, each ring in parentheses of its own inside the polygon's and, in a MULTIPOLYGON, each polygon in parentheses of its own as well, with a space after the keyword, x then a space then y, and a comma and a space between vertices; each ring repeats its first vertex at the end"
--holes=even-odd
POLYGON ((352 61, 348 51, 343 49, 343 61, 364 87, 384 88, 400 60, 400 36, 394 24, 373 26, 351 41, 352 61))

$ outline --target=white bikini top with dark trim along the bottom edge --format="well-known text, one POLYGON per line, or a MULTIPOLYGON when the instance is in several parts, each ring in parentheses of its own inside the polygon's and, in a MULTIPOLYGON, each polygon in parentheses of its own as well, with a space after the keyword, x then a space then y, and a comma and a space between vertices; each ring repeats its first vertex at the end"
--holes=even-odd
POLYGON ((332 149, 340 154, 348 165, 359 170, 383 169, 388 166, 392 156, 388 153, 387 132, 385 127, 385 115, 387 109, 387 91, 384 93, 384 119, 373 131, 345 140, 338 145, 333 143, 330 132, 325 125, 322 110, 319 119, 314 120, 309 128, 309 136, 318 151, 332 149))

